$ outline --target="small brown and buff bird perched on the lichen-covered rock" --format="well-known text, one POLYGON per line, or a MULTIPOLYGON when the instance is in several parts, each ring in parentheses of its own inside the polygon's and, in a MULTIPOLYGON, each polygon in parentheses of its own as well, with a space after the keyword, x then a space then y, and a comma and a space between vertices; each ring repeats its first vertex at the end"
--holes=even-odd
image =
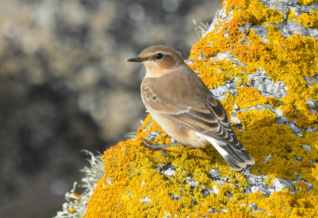
POLYGON ((153 45, 136 58, 146 68, 141 97, 158 125, 178 143, 144 146, 204 148, 212 144, 235 171, 255 163, 237 139, 221 102, 183 61, 181 53, 167 46, 153 45))

